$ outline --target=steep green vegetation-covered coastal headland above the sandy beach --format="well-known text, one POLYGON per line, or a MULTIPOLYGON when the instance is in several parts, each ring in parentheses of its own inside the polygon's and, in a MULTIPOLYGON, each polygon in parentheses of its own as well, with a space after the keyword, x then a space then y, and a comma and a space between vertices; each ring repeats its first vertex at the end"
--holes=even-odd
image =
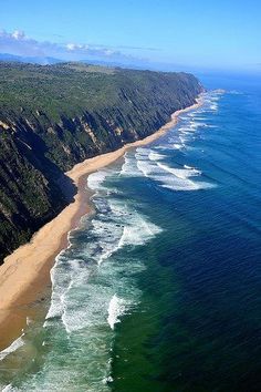
POLYGON ((154 133, 200 92, 185 73, 0 64, 0 260, 72 199, 63 172, 154 133))

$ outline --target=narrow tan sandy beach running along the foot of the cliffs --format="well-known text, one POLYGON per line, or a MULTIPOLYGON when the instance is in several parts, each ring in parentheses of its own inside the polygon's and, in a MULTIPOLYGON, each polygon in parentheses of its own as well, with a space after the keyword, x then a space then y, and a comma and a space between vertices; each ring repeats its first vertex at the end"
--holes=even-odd
POLYGON ((30 243, 6 257, 0 267, 0 351, 21 336, 27 327, 27 318, 33 317, 51 292, 50 270, 55 257, 67 247, 67 234, 80 226, 84 215, 93 212, 86 192, 87 176, 117 161, 129 148, 147 145, 163 136, 177 125, 180 114, 200 107, 202 102, 199 96, 194 105, 176 111, 167 124, 144 140, 87 158, 65 173, 77 187, 74 202, 40 228, 30 243))

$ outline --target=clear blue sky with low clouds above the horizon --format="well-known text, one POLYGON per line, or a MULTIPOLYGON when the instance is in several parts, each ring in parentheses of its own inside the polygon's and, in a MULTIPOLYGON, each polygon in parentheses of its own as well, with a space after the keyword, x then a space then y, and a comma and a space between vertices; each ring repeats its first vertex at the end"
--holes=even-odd
POLYGON ((260 0, 0 0, 0 53, 261 70, 260 0))

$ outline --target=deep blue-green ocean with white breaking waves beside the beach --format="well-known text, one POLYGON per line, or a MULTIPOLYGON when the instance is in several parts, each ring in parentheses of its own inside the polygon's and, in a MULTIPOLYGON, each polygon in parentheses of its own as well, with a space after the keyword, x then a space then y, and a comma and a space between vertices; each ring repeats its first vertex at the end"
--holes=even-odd
POLYGON ((90 175, 2 391, 261 390, 261 79, 201 81, 201 107, 90 175))

